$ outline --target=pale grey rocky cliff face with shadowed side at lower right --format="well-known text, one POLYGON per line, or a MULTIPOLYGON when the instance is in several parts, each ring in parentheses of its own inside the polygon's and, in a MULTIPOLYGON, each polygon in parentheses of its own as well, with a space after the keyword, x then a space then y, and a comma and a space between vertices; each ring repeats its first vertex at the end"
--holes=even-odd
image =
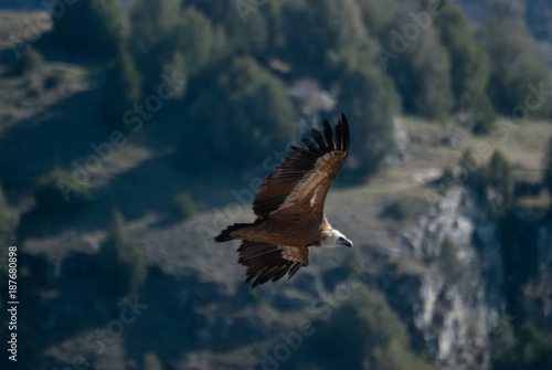
MULTIPOLYGON (((519 222, 535 225, 537 255, 530 258, 538 261, 538 273, 528 287, 532 294, 517 302, 524 307, 511 307, 511 302, 508 307, 511 274, 505 268, 500 222, 491 211, 495 197, 487 195, 481 200, 463 187, 453 188, 403 234, 402 263, 415 261, 422 268, 407 273, 415 294, 394 300, 404 305, 402 313, 411 307, 407 320, 439 369, 489 369, 491 339, 511 325, 514 311, 538 310, 531 315, 551 323, 552 228, 537 210, 513 211, 519 222)), ((396 294, 392 287, 388 296, 396 294)))

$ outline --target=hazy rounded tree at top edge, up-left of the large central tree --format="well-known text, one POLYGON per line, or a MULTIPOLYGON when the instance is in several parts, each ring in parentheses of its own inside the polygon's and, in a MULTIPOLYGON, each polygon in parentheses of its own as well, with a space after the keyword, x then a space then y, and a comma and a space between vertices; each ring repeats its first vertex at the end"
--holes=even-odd
MULTIPOLYGON (((150 92, 162 73, 191 77, 226 54, 225 35, 194 8, 177 0, 140 0, 130 12, 128 47, 142 75, 142 88, 150 92)), ((184 86, 177 92, 181 97, 184 86)))

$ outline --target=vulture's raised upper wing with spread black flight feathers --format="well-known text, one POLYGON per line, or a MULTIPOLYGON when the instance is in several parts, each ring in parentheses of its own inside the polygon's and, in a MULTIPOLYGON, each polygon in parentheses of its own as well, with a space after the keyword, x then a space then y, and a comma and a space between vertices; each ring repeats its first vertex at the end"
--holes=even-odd
POLYGON ((253 201, 259 218, 288 212, 321 216, 323 201, 331 183, 341 170, 349 152, 349 125, 341 114, 336 136, 328 121, 322 135, 311 129, 316 142, 302 139, 307 147, 291 147, 283 165, 277 167, 261 187, 253 201))

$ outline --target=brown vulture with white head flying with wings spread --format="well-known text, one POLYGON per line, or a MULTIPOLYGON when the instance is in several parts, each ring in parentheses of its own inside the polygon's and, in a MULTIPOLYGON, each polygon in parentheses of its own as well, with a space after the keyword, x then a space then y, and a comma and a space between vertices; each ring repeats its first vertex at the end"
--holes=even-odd
POLYGON ((323 135, 311 129, 316 142, 291 147, 284 163, 270 173, 253 201, 256 220, 235 223, 215 237, 219 243, 241 239, 238 263, 247 267, 253 288, 289 278, 308 265, 310 246, 352 246, 331 228, 323 214, 323 201, 349 152, 349 126, 341 114, 336 135, 328 121, 323 135))

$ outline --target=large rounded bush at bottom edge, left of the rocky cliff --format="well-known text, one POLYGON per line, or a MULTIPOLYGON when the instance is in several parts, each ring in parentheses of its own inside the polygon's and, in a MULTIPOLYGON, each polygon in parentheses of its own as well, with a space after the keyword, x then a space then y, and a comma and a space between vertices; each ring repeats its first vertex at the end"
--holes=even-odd
POLYGON ((332 369, 433 369, 410 349, 410 341, 406 327, 385 297, 362 286, 327 321, 317 324, 316 337, 306 343, 305 352, 315 351, 311 358, 332 369))

